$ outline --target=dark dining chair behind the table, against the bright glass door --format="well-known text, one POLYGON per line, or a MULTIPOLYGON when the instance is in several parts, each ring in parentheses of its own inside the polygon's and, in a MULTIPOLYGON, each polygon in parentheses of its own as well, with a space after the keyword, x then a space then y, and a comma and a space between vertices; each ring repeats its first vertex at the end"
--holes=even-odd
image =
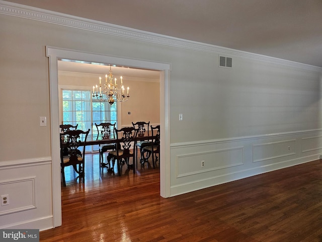
MULTIPOLYGON (((102 135, 102 139, 115 139, 115 125, 111 123, 101 123, 97 125, 95 123, 95 126, 97 128, 98 135, 102 135)), ((100 152, 100 167, 105 167, 109 162, 106 164, 103 162, 103 154, 107 151, 115 150, 115 143, 112 144, 102 144, 99 146, 99 152, 100 152)), ((110 167, 111 168, 111 167, 110 167)))

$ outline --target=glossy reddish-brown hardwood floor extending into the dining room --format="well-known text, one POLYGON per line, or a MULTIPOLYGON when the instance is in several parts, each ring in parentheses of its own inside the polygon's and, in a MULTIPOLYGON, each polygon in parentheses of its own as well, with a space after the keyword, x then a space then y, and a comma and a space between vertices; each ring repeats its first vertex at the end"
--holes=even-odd
POLYGON ((88 156, 85 185, 66 176, 62 226, 40 241, 322 241, 320 160, 164 199, 158 169, 117 176, 88 156))

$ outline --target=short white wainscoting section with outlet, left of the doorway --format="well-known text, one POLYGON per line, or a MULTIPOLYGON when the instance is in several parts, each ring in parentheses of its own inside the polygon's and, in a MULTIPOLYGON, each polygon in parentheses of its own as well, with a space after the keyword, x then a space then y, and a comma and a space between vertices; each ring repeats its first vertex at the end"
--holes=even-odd
POLYGON ((9 195, 0 229, 52 228, 51 182, 50 157, 0 162, 0 195, 9 195))

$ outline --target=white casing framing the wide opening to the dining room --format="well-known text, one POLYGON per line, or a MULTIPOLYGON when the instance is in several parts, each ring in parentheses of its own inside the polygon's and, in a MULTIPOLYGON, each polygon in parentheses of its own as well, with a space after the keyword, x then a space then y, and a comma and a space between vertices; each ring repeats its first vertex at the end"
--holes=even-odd
POLYGON ((52 158, 52 202, 53 227, 61 225, 61 185, 59 162, 59 93, 58 93, 58 58, 81 59, 86 62, 114 63, 133 68, 160 71, 160 196, 170 197, 170 130, 169 130, 169 74, 170 64, 141 61, 124 57, 88 53, 78 50, 46 46, 49 57, 50 121, 51 121, 51 158, 52 158))

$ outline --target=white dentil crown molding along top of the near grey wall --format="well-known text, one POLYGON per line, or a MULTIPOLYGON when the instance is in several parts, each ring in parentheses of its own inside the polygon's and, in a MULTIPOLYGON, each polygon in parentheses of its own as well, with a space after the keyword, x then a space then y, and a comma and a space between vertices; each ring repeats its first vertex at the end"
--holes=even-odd
POLYGON ((16 3, 10 3, 0 0, 0 14, 15 16, 19 18, 26 18, 36 21, 42 21, 51 24, 58 24, 72 28, 78 28, 88 31, 94 31, 99 33, 105 33, 109 35, 115 35, 125 38, 131 38, 141 41, 147 41, 157 44, 165 44, 174 47, 181 47, 187 49, 193 49, 198 51, 222 54, 226 56, 239 57, 252 59, 259 62, 266 62, 276 65, 289 66, 293 68, 301 68, 310 71, 322 72, 322 68, 302 63, 287 61, 285 59, 270 57, 261 54, 250 53, 246 51, 240 51, 216 45, 210 45, 180 38, 175 38, 166 35, 155 34, 151 32, 136 30, 119 25, 113 25, 100 21, 75 17, 44 9, 38 9, 30 6, 20 5, 16 3))

